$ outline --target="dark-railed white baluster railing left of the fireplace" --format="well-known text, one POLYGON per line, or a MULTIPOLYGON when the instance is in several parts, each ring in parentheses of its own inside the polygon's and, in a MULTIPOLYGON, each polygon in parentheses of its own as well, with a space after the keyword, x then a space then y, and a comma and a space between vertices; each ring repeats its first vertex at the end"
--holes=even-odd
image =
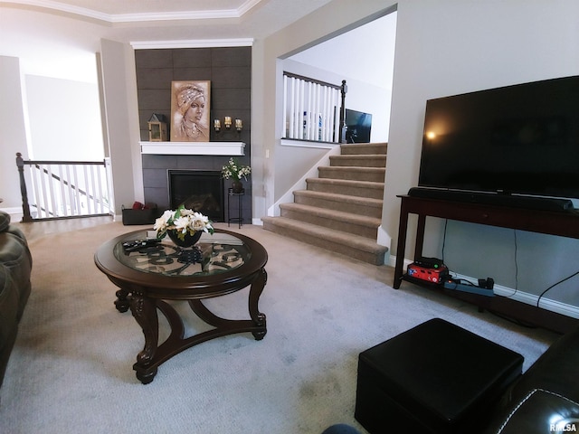
POLYGON ((109 159, 33 161, 16 154, 23 222, 109 215, 109 159), (26 180, 32 190, 28 197, 26 180))

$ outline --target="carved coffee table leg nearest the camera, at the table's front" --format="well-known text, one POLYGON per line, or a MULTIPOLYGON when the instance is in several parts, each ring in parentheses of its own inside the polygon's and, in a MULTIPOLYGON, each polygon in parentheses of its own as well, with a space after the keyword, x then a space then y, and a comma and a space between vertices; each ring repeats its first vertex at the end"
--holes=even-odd
POLYGON ((137 355, 137 363, 133 369, 137 371, 137 378, 143 384, 152 382, 157 374, 157 366, 151 366, 159 340, 157 304, 155 300, 134 292, 130 297, 130 310, 143 329, 145 347, 137 355))

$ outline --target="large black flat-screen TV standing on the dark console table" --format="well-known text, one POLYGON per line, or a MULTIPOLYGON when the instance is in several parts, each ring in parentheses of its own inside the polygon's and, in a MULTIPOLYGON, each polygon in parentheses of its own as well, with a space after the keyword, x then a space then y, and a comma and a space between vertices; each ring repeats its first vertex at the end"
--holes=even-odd
POLYGON ((418 184, 579 198, 579 76, 429 99, 418 184))

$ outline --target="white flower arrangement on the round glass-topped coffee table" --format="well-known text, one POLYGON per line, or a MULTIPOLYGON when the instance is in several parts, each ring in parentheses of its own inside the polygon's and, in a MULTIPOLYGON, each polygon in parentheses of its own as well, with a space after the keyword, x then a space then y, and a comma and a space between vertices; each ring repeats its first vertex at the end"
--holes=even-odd
POLYGON ((180 205, 176 211, 166 210, 163 215, 155 221, 153 229, 157 231, 157 239, 162 239, 166 231, 176 231, 179 240, 185 240, 185 235, 195 234, 196 231, 209 232, 213 235, 213 222, 201 212, 185 209, 180 205))

